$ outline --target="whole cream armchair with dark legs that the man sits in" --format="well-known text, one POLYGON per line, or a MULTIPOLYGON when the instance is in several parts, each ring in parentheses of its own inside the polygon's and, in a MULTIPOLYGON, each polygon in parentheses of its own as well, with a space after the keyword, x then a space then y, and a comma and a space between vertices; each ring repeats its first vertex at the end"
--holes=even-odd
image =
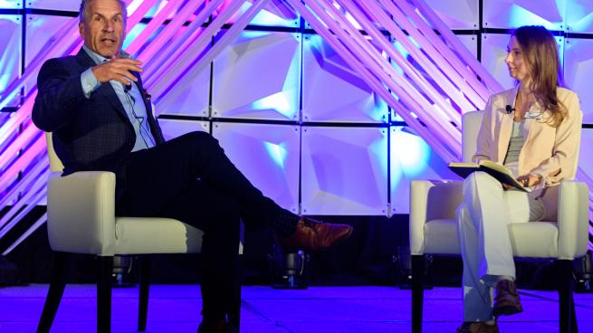
MULTIPOLYGON (((47 230, 55 252, 52 282, 37 332, 49 332, 65 288, 67 252, 94 254, 99 259, 97 281, 97 331, 110 331, 113 256, 151 253, 200 252, 202 231, 167 218, 115 215, 115 175, 110 172, 76 172, 60 176, 63 166, 53 151, 52 134, 46 134, 50 168, 47 187, 47 230)), ((140 256, 139 331, 146 329, 148 314, 148 256, 140 256)), ((240 284, 237 290, 240 290, 240 284)), ((239 324, 240 292, 234 325, 239 324)))

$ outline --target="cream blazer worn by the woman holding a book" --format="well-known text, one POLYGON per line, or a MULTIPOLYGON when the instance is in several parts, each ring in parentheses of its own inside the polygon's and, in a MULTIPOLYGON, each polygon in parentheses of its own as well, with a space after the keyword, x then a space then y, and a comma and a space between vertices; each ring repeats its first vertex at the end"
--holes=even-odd
MULTIPOLYGON (((502 163, 512 135, 512 113, 519 87, 504 90, 491 96, 486 104, 483 121, 478 131, 476 153, 473 160, 490 159, 502 163)), ((579 96, 571 90, 558 88, 558 99, 568 109, 567 117, 557 128, 546 122, 550 112, 539 103, 528 110, 523 129, 525 142, 519 154, 519 175, 540 175, 542 182, 535 186, 533 195, 540 196, 545 205, 557 205, 558 188, 563 179, 572 179, 577 173, 579 160, 582 112, 579 96), (553 187, 553 189, 552 189, 553 187)), ((549 207, 551 208, 551 207, 549 207)), ((555 209, 548 209, 546 216, 553 217, 555 209)))

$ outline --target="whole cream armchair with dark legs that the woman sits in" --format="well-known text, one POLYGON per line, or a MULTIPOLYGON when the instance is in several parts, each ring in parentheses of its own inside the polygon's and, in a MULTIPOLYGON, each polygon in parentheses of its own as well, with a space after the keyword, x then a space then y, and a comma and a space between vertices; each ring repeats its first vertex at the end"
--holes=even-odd
MULTIPOLYGON (((483 112, 463 117, 463 155, 470 161, 483 112)), ((412 332, 422 331, 425 254, 460 254, 455 209, 461 204, 461 181, 413 181, 410 188, 410 252, 412 254, 412 332)), ((515 257, 557 260, 560 281, 560 332, 577 331, 572 297, 571 261, 588 248, 588 187, 577 181, 560 185, 557 221, 511 224, 515 257)))

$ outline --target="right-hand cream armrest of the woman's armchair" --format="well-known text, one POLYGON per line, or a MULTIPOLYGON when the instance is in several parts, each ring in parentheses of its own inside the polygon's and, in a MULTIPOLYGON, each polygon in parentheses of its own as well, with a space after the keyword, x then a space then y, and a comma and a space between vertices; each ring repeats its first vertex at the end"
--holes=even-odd
POLYGON ((572 260, 588 249, 588 187, 565 180, 558 195, 558 257, 572 260))

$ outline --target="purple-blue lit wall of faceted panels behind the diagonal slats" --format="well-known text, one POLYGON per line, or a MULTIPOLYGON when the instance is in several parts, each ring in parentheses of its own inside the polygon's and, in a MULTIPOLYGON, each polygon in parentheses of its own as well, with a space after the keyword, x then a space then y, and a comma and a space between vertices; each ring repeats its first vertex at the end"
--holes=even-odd
MULTIPOLYGON (((509 30, 523 24, 552 30, 566 83, 581 98, 583 142, 593 142, 593 2, 426 3, 505 88, 513 84, 503 62, 509 30)), ((0 0, 0 91, 77 15, 79 5, 0 0)), ((158 8, 151 14, 156 13, 158 8)), ((20 102, 18 96, 0 112, 0 123, 20 102)), ((300 18, 258 14, 176 103, 158 113, 167 138, 211 132, 256 186, 295 213, 407 214, 412 179, 456 177, 300 18)), ((591 176, 593 157, 586 146, 581 145, 580 165, 591 176)))

